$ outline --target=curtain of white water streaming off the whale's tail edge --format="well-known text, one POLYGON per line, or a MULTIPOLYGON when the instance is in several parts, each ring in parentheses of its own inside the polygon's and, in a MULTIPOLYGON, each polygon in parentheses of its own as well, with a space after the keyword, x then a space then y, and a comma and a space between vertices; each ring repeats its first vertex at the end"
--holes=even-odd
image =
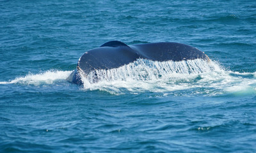
MULTIPOLYGON (((212 62, 207 62, 202 59, 195 59, 189 61, 149 61, 146 59, 139 59, 120 68, 114 69, 100 69, 92 71, 84 78, 85 86, 95 82, 113 81, 113 80, 159 80, 170 77, 177 77, 177 75, 198 74, 220 70, 219 66, 212 62), (95 75, 97 74, 97 75, 95 75)), ((182 76, 179 76, 182 77, 182 76)))

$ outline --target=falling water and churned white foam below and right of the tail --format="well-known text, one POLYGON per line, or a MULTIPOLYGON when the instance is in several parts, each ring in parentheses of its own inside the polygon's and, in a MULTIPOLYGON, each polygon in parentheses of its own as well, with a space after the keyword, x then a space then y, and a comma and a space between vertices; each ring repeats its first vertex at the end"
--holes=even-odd
POLYGON ((107 91, 111 94, 161 92, 206 94, 226 92, 256 93, 255 73, 226 71, 218 62, 195 59, 189 61, 148 61, 140 59, 115 69, 95 70, 82 77, 85 91, 107 91), (97 74, 97 75, 95 75, 97 74))

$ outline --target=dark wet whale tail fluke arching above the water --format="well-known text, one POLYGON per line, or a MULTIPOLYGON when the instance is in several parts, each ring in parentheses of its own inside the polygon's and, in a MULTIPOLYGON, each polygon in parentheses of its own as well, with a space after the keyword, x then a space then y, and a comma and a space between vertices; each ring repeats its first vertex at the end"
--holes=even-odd
POLYGON ((121 41, 108 41, 98 48, 85 52, 78 60, 76 69, 66 79, 74 84, 83 84, 82 77, 99 69, 113 69, 138 59, 150 61, 188 61, 209 57, 198 48, 183 43, 160 42, 126 45, 121 41))

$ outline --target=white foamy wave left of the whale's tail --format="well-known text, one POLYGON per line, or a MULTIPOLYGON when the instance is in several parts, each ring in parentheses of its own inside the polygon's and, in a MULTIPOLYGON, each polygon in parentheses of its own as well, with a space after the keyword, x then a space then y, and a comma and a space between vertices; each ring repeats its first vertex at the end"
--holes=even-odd
POLYGON ((33 74, 29 73, 25 77, 18 77, 10 82, 0 82, 0 84, 32 84, 32 85, 40 85, 40 84, 52 84, 56 80, 65 80, 68 75, 70 75, 72 71, 57 71, 57 70, 49 70, 44 71, 42 73, 33 74))

